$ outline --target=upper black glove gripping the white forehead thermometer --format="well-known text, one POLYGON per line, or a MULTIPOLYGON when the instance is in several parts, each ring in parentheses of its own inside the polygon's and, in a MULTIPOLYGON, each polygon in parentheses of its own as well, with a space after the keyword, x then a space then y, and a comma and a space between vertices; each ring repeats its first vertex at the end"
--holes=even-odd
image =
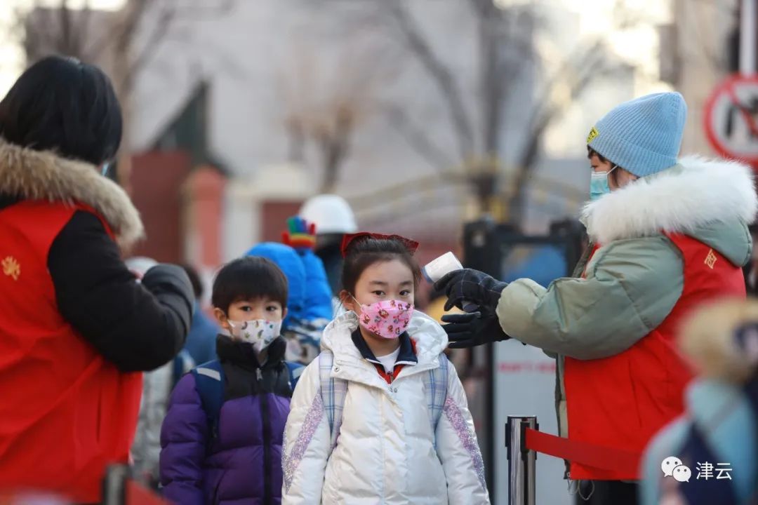
POLYGON ((480 307, 487 307, 494 313, 497 302, 500 301, 500 294, 507 285, 507 282, 500 282, 479 270, 465 268, 448 273, 434 283, 434 288, 443 291, 447 296, 445 310, 453 307, 462 309, 463 301, 468 301, 480 307))

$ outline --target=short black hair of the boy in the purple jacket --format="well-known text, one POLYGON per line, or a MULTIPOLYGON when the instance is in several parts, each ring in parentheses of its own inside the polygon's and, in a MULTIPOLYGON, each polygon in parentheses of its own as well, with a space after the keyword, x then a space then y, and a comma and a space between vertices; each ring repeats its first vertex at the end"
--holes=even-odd
POLYGON ((236 301, 271 298, 287 307, 287 277, 265 257, 247 256, 224 265, 213 282, 213 306, 229 312, 236 301))

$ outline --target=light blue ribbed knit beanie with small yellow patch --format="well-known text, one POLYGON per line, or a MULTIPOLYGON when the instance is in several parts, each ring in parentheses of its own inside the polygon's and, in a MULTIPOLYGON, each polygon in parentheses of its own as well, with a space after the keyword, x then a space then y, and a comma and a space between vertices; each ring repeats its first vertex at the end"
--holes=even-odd
POLYGON ((590 130, 587 146, 613 164, 644 177, 677 162, 687 104, 679 93, 625 101, 590 130))

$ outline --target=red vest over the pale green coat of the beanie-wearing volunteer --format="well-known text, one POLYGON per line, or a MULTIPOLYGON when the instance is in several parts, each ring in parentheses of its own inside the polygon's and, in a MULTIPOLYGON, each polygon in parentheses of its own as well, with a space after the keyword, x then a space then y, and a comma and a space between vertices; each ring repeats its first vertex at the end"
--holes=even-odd
MULTIPOLYGON (((694 238, 668 236, 684 260, 684 288, 666 320, 621 354, 601 360, 565 358, 568 438, 573 441, 641 454, 650 438, 684 411, 684 388, 692 373, 675 351, 682 317, 704 301, 745 296, 740 267, 694 238)), ((638 478, 571 465, 575 480, 638 478)))

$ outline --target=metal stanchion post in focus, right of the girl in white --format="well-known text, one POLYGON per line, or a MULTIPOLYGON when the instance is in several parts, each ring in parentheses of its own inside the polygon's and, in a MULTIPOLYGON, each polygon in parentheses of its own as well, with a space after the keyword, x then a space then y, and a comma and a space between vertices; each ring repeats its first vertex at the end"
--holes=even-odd
POLYGON ((537 416, 508 416, 508 505, 534 505, 537 453, 526 447, 526 429, 537 429, 537 416))

